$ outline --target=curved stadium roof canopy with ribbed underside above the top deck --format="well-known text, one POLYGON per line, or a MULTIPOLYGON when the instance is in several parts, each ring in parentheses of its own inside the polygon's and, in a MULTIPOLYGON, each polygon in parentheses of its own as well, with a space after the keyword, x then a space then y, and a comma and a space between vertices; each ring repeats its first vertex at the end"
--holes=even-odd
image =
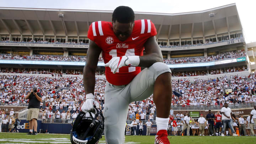
MULTIPOLYGON (((89 25, 94 21, 111 21, 112 12, 0 7, 0 35, 86 38, 89 25), (58 14, 64 14, 64 17, 60 18, 58 14)), ((153 21, 158 39, 191 39, 242 32, 235 4, 178 14, 135 12, 135 19, 153 21), (214 16, 210 17, 212 13, 214 16)))

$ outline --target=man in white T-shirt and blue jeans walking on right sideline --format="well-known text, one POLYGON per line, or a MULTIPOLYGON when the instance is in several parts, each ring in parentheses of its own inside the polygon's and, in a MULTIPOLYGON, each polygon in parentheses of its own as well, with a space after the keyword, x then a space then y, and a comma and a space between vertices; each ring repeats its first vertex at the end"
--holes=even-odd
MULTIPOLYGON (((221 112, 222 112, 222 124, 223 124, 222 137, 225 137, 224 132, 225 132, 227 125, 231 129, 233 136, 238 136, 238 134, 235 134, 235 130, 233 128, 232 111, 228 107, 228 103, 226 103, 226 102, 224 103, 224 107, 222 107, 221 112)), ((235 119, 235 118, 233 118, 233 119, 235 119)))

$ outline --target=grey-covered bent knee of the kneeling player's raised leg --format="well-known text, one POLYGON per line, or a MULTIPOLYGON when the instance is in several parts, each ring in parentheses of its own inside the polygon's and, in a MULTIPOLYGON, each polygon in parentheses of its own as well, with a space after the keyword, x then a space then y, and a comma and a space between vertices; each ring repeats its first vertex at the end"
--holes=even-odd
POLYGON ((162 62, 154 63, 148 69, 154 73, 154 80, 156 80, 156 78, 163 73, 171 73, 169 66, 162 62))

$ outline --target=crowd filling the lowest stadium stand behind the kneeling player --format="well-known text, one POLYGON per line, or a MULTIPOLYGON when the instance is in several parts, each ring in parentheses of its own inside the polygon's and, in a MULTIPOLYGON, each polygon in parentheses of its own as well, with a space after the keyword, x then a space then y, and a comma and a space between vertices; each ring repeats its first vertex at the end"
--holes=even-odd
MULTIPOLYGON (((224 102, 237 104, 244 102, 256 102, 256 74, 249 76, 227 76, 216 79, 198 79, 190 81, 187 78, 173 79, 172 89, 177 92, 173 95, 172 105, 182 106, 208 106, 223 105, 224 102), (224 89, 233 89, 230 94, 225 94, 224 89)), ((27 103, 23 97, 30 91, 33 85, 37 85, 43 96, 42 107, 59 107, 68 110, 69 106, 80 107, 84 100, 84 87, 82 79, 79 77, 42 77, 42 76, 19 76, 19 75, 0 75, 0 98, 1 103, 12 103, 19 105, 27 103), (62 91, 63 88, 68 89, 62 91), (63 106, 60 104, 63 103, 63 106), (65 104, 66 103, 66 104, 65 104)), ((104 100, 105 78, 96 78, 95 95, 98 101, 104 100)), ((130 109, 134 106, 141 106, 142 110, 150 110, 154 107, 153 96, 144 101, 131 103, 130 109)), ((153 111, 151 111, 153 112, 153 111)), ((146 112, 149 113, 149 112, 146 112)), ((155 112, 154 112, 155 113, 155 112)))

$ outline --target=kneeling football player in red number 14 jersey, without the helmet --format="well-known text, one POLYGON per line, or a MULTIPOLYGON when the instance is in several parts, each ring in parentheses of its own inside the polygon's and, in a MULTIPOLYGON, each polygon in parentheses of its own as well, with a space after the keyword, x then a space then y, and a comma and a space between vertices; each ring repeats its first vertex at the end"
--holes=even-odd
POLYGON ((89 27, 83 71, 86 101, 81 110, 92 111, 94 104, 98 105, 94 99, 95 70, 102 52, 107 79, 103 110, 107 144, 123 143, 129 103, 145 100, 152 94, 158 110, 155 143, 170 144, 167 128, 172 99, 171 70, 163 63, 155 35, 154 23, 135 21, 133 10, 127 6, 114 10, 112 22, 92 22, 89 27), (140 67, 145 69, 141 71, 140 67))

